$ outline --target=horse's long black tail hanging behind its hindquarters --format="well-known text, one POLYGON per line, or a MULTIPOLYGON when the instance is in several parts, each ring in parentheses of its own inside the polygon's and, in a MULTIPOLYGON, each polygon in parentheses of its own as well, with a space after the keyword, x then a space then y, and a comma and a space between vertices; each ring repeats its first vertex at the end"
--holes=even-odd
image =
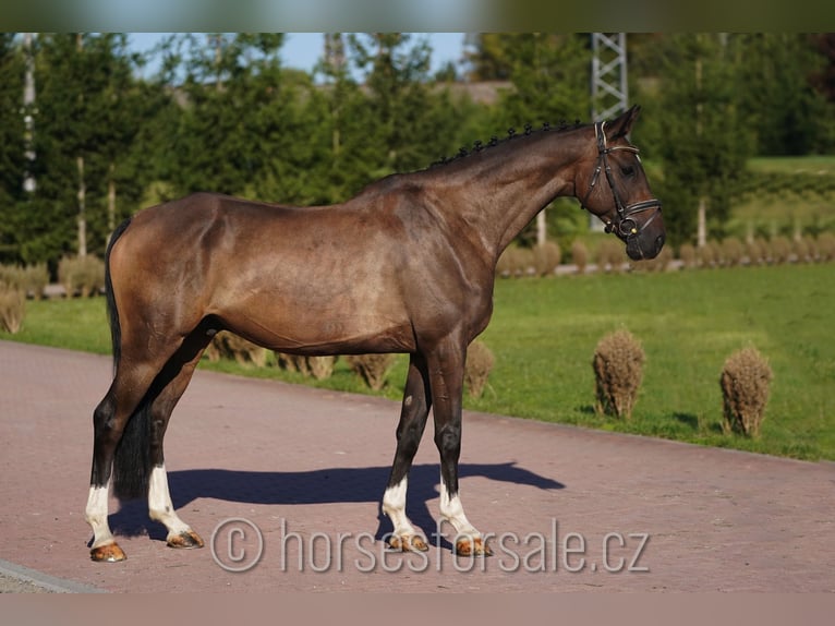
MULTIPOLYGON (((125 219, 113 231, 105 253, 105 291, 107 297, 107 314, 110 321, 110 339, 113 345, 113 372, 119 372, 119 361, 122 357, 122 328, 119 322, 119 310, 113 293, 113 281, 110 274, 110 251, 113 244, 131 225, 125 219)), ((113 494, 121 499, 140 497, 147 493, 148 477, 150 475, 150 402, 143 398, 122 432, 122 438, 116 447, 113 456, 113 494)))

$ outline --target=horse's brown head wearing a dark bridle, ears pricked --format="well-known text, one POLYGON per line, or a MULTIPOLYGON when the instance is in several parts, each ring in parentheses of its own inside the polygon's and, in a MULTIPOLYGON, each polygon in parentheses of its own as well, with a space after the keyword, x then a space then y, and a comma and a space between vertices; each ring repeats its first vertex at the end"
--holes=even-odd
POLYGON ((661 202, 650 191, 638 148, 627 140, 639 111, 640 107, 632 107, 612 122, 594 124, 588 159, 594 165, 579 167, 576 178, 578 197, 586 190, 583 207, 606 224, 606 232, 626 243, 633 261, 657 256, 665 238, 661 202))

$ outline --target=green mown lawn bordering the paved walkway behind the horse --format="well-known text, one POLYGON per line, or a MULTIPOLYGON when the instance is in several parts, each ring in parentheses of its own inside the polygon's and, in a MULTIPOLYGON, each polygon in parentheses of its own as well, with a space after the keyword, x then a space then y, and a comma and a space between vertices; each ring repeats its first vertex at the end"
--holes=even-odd
MULTIPOLYGON (((496 365, 467 408, 725 446, 835 460, 835 265, 738 267, 673 274, 498 280, 482 339, 496 365), (592 354, 627 328, 646 353, 628 422, 594 413, 592 354), (719 373, 737 349, 754 346, 774 371, 758 440, 722 433, 719 373)), ((29 302, 23 330, 2 339, 109 353, 104 299, 29 302)), ((313 382, 276 368, 204 360, 202 368, 370 393, 344 363, 313 382)), ((399 399, 401 357, 380 395, 399 399)), ((392 417, 394 419, 394 417, 392 417)), ((392 422, 394 423, 394 422, 392 422)))

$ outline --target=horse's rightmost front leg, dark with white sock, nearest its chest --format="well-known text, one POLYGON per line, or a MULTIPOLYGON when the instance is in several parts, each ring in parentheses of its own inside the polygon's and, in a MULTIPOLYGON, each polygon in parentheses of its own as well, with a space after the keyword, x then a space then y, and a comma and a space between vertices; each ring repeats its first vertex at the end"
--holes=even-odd
POLYGON ((470 523, 458 494, 461 455, 461 405, 467 347, 448 342, 429 357, 429 384, 435 411, 435 445, 440 453, 440 519, 456 529, 456 552, 491 555, 487 542, 470 523))

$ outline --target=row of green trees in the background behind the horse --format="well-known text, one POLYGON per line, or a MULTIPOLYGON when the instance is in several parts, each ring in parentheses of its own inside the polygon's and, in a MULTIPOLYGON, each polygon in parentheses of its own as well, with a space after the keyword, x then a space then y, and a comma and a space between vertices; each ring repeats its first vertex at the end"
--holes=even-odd
MULTIPOLYGON (((633 141, 658 166, 674 243, 721 230, 752 155, 835 148, 835 36, 628 41, 633 141)), ((324 35, 311 72, 282 65, 282 34, 176 34, 147 55, 129 43, 0 34, 0 263, 101 255, 124 217, 193 191, 340 202, 511 127, 590 121, 588 34, 470 35, 434 75, 426 40, 402 33, 324 35)), ((560 232, 584 219, 570 203, 548 212, 560 232)))

